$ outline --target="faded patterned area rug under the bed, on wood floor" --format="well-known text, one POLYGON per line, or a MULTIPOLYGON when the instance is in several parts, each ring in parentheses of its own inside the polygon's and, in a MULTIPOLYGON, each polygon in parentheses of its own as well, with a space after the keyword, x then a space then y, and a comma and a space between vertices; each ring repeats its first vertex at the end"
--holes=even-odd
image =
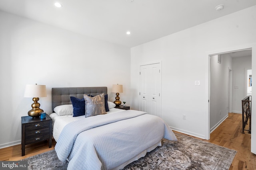
MULTIPOLYGON (((235 150, 175 133, 178 141, 162 140, 157 147, 128 164, 124 170, 228 170, 235 150)), ((55 150, 26 158, 28 170, 66 170, 68 161, 58 160, 55 150)))

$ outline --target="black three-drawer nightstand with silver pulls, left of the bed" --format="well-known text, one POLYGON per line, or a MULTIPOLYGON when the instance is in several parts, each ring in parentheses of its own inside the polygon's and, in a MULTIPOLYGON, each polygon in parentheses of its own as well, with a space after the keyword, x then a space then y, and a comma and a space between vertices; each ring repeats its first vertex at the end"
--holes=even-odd
POLYGON ((52 119, 46 114, 45 119, 31 116, 21 117, 21 148, 25 155, 25 145, 39 141, 49 140, 49 148, 52 147, 52 119))

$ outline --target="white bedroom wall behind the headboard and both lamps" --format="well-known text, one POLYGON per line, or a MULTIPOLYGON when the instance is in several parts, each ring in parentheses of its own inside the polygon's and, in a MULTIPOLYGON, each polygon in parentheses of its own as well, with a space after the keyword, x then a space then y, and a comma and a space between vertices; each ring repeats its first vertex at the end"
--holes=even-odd
POLYGON ((20 117, 33 102, 23 97, 26 84, 46 85, 39 103, 48 114, 52 87, 107 86, 114 101, 112 84, 119 83, 121 101, 130 105, 130 48, 5 12, 0 23, 0 148, 20 143, 20 117))

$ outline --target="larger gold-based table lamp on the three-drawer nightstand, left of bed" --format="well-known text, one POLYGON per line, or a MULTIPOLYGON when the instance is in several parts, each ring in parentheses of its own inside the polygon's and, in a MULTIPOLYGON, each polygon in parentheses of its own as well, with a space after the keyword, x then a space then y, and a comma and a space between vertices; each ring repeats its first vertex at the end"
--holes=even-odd
POLYGON ((27 84, 24 97, 33 98, 32 100, 34 101, 34 103, 31 105, 32 109, 28 111, 28 115, 33 118, 39 117, 44 110, 39 108, 40 104, 38 103, 38 100, 39 98, 46 97, 46 86, 27 84))

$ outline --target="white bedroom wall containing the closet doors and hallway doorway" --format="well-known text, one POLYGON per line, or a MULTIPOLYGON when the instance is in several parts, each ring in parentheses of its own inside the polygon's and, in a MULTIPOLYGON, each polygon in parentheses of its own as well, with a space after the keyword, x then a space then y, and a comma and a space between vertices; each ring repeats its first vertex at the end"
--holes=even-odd
MULTIPOLYGON (((253 70, 256 69, 255 44, 256 6, 253 6, 133 47, 131 105, 139 109, 139 65, 161 60, 162 118, 172 129, 207 139, 208 55, 252 47, 253 70), (195 80, 200 80, 200 86, 195 86, 195 80), (186 120, 182 119, 183 114, 186 114, 186 120)), ((256 122, 256 117, 252 116, 252 121, 256 122)), ((254 130, 256 127, 252 126, 252 143, 256 142, 254 130)), ((252 146, 252 150, 256 152, 256 147, 252 146)))

